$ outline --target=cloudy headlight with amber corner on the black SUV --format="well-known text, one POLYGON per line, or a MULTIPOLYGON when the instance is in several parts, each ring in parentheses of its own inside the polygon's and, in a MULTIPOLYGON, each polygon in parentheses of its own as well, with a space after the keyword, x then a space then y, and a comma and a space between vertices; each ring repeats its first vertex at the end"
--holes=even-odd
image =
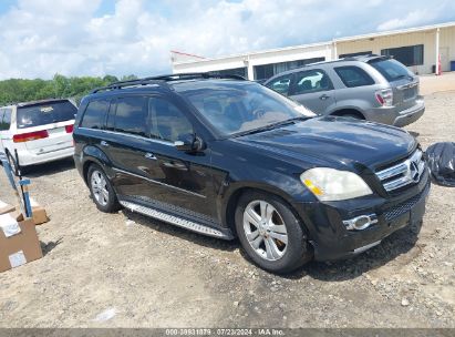
POLYGON ((342 201, 373 192, 355 173, 328 167, 316 167, 300 175, 302 183, 323 202, 342 201))

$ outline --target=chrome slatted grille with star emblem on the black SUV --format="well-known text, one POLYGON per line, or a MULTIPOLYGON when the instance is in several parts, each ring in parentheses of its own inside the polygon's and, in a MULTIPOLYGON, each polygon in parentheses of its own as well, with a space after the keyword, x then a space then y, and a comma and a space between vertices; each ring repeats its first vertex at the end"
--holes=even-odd
POLYGON ((385 191, 391 192, 412 183, 418 183, 425 170, 423 153, 416 150, 407 160, 376 172, 385 191))

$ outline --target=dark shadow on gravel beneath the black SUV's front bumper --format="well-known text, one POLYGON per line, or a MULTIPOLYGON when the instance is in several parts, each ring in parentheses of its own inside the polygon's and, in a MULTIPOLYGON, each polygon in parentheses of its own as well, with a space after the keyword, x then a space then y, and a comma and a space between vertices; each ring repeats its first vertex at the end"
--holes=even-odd
MULTIPOLYGON (((313 261, 292 274, 283 275, 283 277, 298 279, 310 276, 324 282, 343 282, 380 268, 404 254, 409 255, 403 258, 404 264, 407 264, 410 259, 415 257, 415 254, 411 253, 413 248, 417 251, 417 254, 420 253, 420 247, 416 243, 421 228, 422 222, 409 225, 392 233, 380 245, 352 258, 328 263, 313 261)), ((403 261, 401 264, 403 264, 403 261)))

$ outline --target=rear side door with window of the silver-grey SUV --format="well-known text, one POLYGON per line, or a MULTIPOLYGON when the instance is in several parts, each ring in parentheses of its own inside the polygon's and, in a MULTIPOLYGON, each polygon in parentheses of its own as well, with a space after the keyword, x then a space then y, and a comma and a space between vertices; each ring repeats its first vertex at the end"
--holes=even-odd
POLYGON ((337 102, 332 81, 322 69, 296 73, 289 96, 319 114, 324 114, 337 102))

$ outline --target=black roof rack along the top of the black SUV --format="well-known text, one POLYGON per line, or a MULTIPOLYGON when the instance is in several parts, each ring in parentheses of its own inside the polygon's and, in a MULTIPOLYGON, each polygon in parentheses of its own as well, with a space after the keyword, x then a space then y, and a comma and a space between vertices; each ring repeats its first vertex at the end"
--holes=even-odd
MULTIPOLYGON (((137 80, 128 80, 128 81, 118 81, 114 82, 110 85, 96 88, 92 90, 91 93, 96 93, 100 91, 105 90, 116 90, 122 89, 125 86, 134 86, 134 85, 149 85, 149 84, 157 84, 167 86, 167 82, 172 81, 184 81, 184 80, 196 80, 196 79, 230 79, 230 80, 240 80, 246 81, 244 76, 235 75, 235 74, 219 74, 216 72, 194 72, 194 73, 178 73, 178 74, 166 74, 166 75, 158 75, 158 76, 151 76, 137 80)), ((168 88, 168 86, 167 86, 168 88)))

